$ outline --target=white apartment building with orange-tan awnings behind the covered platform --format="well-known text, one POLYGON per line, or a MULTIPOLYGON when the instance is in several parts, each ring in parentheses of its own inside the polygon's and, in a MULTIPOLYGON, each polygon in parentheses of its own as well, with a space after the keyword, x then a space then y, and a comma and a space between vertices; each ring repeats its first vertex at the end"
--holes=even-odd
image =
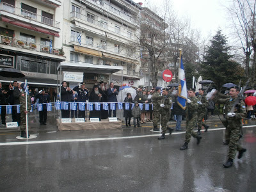
POLYGON ((63 0, 62 6, 65 62, 95 67, 94 71, 83 71, 86 86, 99 81, 112 81, 116 86, 133 82, 136 86, 140 55, 131 42, 136 42, 140 32, 136 24, 140 4, 129 0, 63 0), (122 68, 123 79, 121 70, 99 72, 97 65, 122 68))

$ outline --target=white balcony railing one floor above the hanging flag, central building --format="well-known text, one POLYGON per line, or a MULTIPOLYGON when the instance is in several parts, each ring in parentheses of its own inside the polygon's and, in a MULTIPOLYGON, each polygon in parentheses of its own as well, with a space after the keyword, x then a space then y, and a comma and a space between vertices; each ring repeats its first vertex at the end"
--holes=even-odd
POLYGON ((100 21, 95 20, 95 19, 93 20, 93 19, 88 18, 86 15, 82 15, 81 13, 77 13, 77 12, 71 12, 70 17, 79 18, 79 19, 83 20, 84 22, 88 22, 88 23, 92 24, 93 26, 99 26, 101 28, 108 29, 109 31, 112 31, 114 33, 118 33, 118 34, 120 34, 122 36, 125 36, 127 38, 133 39, 131 31, 129 31, 129 33, 128 33, 128 32, 125 32, 123 30, 120 30, 120 28, 118 29, 118 28, 109 26, 107 21, 105 21, 105 20, 100 20, 100 21))

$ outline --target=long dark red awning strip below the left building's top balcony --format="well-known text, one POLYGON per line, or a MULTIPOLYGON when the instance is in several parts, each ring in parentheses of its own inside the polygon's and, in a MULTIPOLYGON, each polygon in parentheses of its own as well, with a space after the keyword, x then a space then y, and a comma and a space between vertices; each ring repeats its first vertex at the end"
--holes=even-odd
POLYGON ((39 26, 31 25, 31 24, 28 24, 26 22, 21 22, 21 21, 18 21, 18 20, 8 19, 7 17, 1 17, 1 20, 3 22, 8 22, 8 23, 13 24, 15 26, 19 26, 20 28, 31 29, 31 30, 36 31, 36 32, 45 33, 45 34, 48 34, 48 35, 53 35, 53 36, 56 36, 56 37, 60 37, 58 32, 49 31, 48 29, 40 28, 39 26))

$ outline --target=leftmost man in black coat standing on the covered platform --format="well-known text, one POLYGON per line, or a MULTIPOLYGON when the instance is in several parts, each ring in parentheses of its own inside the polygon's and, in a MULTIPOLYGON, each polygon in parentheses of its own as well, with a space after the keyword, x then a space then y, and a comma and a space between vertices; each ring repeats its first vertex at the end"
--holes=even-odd
MULTIPOLYGON (((72 97, 72 90, 71 90, 71 88, 67 87, 66 81, 63 81, 61 84, 62 84, 61 89, 60 89, 61 101, 70 102, 70 99, 72 97)), ((61 118, 69 118, 70 117, 69 112, 70 111, 69 111, 69 104, 68 104, 67 110, 61 109, 61 118)))

